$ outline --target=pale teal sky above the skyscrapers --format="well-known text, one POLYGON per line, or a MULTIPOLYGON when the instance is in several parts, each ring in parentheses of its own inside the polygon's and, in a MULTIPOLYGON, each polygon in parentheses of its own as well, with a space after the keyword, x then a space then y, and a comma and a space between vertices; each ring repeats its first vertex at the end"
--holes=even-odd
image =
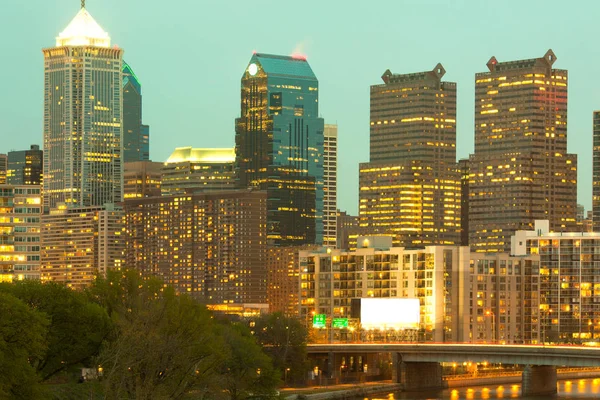
MULTIPOLYGON (((87 0, 125 49, 143 85, 150 154, 234 145, 240 79, 252 51, 308 56, 320 112, 339 125, 338 207, 358 209, 358 163, 368 161, 369 86, 386 69, 444 65, 458 83, 458 157, 473 151, 474 75, 498 61, 552 48, 569 71, 569 152, 579 155, 579 203, 592 203, 592 111, 600 109, 600 2, 589 0, 87 0), (356 5, 352 3, 358 3, 356 5)), ((79 10, 79 0, 2 0, 0 152, 42 144, 41 49, 79 10)))

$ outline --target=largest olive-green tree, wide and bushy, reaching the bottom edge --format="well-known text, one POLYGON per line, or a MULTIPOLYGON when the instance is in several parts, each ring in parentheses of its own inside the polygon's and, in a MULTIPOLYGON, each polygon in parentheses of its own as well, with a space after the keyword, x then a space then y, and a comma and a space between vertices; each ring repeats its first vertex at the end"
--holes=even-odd
POLYGON ((204 306, 135 271, 109 274, 90 295, 111 310, 117 329, 98 358, 108 399, 214 389, 226 350, 204 306))

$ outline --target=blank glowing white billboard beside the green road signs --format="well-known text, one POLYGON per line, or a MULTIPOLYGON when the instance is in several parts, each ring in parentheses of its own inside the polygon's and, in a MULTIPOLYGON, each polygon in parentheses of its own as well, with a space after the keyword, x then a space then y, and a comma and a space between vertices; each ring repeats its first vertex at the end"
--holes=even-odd
POLYGON ((360 299, 360 323, 363 329, 418 329, 419 299, 360 299))

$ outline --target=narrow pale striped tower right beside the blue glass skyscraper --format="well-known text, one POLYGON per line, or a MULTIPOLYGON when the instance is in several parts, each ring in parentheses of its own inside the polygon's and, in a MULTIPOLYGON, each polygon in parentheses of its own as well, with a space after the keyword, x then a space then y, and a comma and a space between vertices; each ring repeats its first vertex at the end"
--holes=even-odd
POLYGON ((323 245, 337 242, 337 125, 325 124, 323 133, 323 245))

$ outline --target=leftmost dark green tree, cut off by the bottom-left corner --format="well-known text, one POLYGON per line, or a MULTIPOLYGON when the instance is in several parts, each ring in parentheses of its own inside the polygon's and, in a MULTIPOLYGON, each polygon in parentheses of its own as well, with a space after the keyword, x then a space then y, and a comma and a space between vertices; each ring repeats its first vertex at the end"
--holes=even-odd
POLYGON ((0 292, 0 398, 41 398, 32 361, 44 357, 48 324, 44 314, 0 292))

